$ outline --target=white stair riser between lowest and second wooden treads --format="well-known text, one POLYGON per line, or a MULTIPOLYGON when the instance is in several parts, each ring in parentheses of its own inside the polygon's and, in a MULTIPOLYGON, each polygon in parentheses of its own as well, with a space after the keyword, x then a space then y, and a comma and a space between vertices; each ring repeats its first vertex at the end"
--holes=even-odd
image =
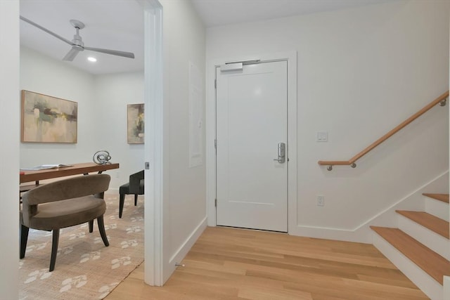
POLYGON ((399 215, 399 229, 450 261, 450 241, 432 230, 399 215))

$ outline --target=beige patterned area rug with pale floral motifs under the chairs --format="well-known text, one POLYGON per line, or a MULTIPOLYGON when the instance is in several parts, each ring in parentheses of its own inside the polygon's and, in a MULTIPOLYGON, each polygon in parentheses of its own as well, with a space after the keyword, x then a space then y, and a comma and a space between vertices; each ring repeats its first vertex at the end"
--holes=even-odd
POLYGON ((49 272, 51 232, 30 229, 25 258, 19 261, 19 299, 103 299, 143 262, 143 196, 134 207, 127 195, 119 219, 118 195, 105 195, 105 247, 94 222, 60 230, 58 256, 49 272))

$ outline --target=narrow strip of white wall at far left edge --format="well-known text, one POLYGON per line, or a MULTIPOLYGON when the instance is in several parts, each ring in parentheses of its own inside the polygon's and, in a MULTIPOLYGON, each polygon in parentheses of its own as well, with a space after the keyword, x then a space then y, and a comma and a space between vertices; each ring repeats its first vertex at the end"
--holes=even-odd
POLYGON ((0 1, 0 148, 2 299, 18 299, 19 2, 0 1))

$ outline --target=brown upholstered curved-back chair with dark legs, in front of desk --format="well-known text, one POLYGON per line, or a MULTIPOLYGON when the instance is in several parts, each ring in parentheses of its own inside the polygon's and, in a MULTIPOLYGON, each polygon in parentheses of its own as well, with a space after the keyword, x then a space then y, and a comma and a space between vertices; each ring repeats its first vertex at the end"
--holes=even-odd
POLYGON ((109 175, 94 174, 46 183, 24 193, 20 210, 20 259, 25 257, 30 228, 53 231, 51 272, 55 269, 60 228, 89 222, 91 233, 94 219, 97 219, 101 238, 108 247, 103 223, 106 204, 98 194, 108 190, 109 184, 109 175))

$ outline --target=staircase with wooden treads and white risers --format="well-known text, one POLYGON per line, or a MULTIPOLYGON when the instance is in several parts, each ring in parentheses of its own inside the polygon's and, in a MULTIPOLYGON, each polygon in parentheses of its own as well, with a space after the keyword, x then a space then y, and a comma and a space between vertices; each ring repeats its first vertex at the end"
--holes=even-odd
POLYGON ((399 228, 371 226, 373 244, 430 299, 444 300, 443 276, 450 275, 449 195, 423 196, 425 211, 397 210, 399 228))

